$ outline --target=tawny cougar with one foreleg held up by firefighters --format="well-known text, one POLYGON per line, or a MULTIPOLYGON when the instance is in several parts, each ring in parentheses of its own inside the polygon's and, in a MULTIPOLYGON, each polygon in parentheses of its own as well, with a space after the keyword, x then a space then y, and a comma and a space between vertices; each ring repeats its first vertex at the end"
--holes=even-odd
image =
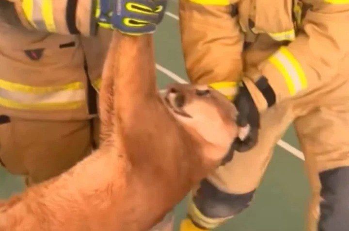
POLYGON ((172 85, 192 118, 178 115, 158 94, 153 52, 152 35, 114 32, 101 147, 4 203, 0 231, 146 231, 220 163, 238 135, 234 106, 213 90, 197 96, 195 86, 172 85))

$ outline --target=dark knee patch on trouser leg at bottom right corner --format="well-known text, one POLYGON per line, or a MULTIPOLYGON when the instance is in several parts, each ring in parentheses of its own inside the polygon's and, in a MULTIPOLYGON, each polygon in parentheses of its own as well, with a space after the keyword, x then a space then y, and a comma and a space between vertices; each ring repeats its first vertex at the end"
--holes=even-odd
POLYGON ((349 167, 321 172, 318 231, 347 231, 349 227, 349 167))

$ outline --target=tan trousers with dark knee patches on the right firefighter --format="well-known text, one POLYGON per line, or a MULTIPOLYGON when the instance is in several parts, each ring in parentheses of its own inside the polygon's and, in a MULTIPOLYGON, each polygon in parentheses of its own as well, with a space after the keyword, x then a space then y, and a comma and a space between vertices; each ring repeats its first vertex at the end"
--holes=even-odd
POLYGON ((275 145, 293 123, 312 188, 307 230, 347 231, 348 69, 343 67, 341 76, 263 112, 257 145, 247 152, 235 152, 230 163, 209 175, 193 193, 195 196, 189 206, 193 223, 203 227, 218 226, 247 208, 275 145))

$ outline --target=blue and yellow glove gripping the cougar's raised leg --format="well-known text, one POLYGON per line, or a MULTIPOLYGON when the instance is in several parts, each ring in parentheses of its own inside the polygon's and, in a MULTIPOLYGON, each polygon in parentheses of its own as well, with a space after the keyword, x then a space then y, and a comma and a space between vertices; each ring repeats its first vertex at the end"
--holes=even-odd
POLYGON ((167 0, 98 0, 96 17, 104 28, 130 35, 154 33, 167 0))

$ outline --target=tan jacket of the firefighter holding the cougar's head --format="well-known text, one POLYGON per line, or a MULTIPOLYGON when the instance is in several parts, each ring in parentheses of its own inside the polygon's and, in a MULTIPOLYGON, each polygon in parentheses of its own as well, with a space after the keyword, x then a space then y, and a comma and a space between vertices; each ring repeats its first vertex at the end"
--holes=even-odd
POLYGON ((243 78, 255 88, 265 76, 276 101, 331 81, 349 53, 349 0, 180 0, 179 13, 191 81, 213 83, 226 95, 258 56, 244 55, 244 44, 258 42, 259 51, 278 44, 243 78))

